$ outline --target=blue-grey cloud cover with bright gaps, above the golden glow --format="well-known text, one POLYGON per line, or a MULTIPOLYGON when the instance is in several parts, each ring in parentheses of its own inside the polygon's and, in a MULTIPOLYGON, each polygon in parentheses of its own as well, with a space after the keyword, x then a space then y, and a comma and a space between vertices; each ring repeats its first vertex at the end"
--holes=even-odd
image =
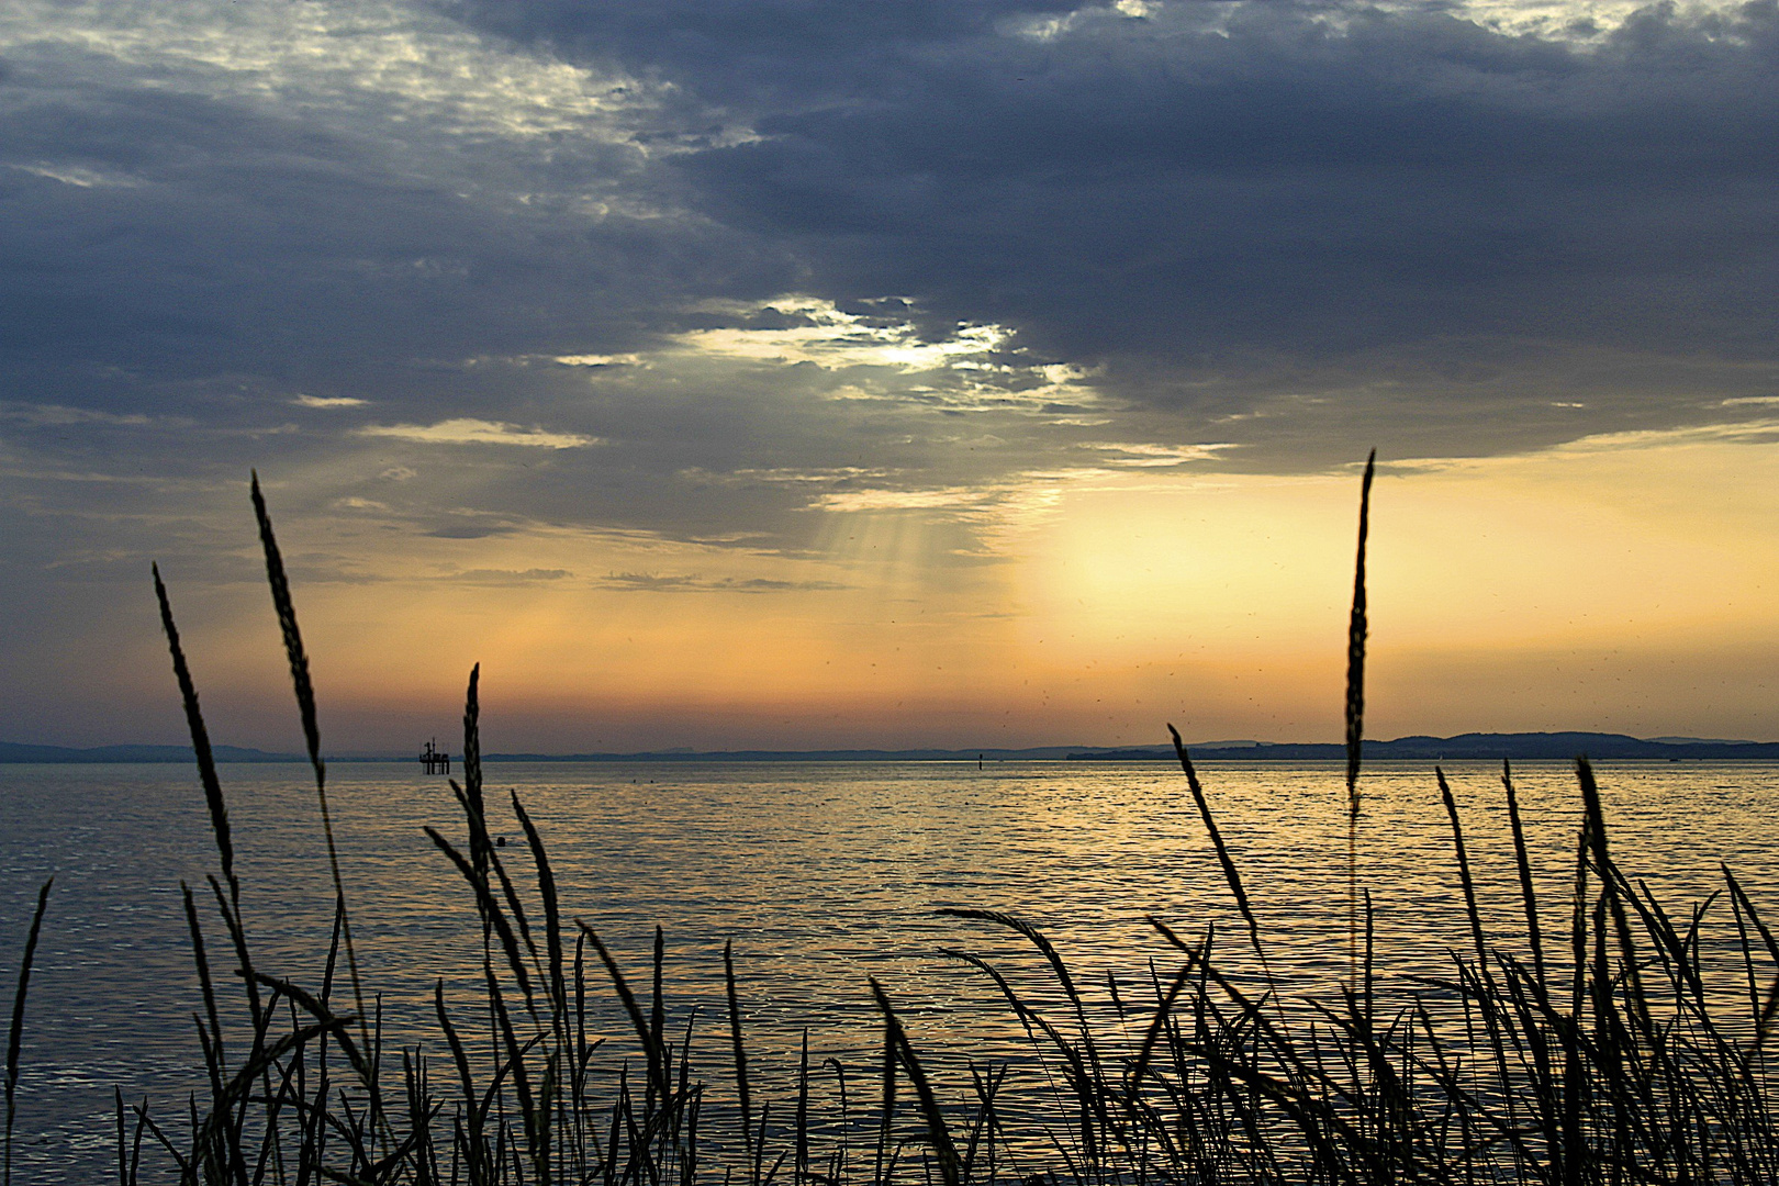
POLYGON ((1735 432, 1775 220, 1770 0, 14 0, 7 629, 249 580, 249 466, 313 580, 815 596, 849 516, 1735 432))

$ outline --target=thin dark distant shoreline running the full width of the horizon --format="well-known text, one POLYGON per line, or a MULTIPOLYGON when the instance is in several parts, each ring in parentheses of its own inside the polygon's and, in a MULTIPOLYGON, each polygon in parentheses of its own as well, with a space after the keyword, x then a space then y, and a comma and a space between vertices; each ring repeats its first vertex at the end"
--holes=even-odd
MULTIPOLYGON (((1281 763, 1340 761, 1347 750, 1332 741, 1242 741, 1188 747, 1194 761, 1281 763)), ((1464 733, 1452 738, 1407 736, 1364 743, 1366 761, 1567 761, 1578 754, 1592 759, 1631 761, 1779 761, 1779 741, 1642 740, 1619 733, 1464 733)), ((454 765, 459 761, 454 757, 454 765)), ((301 754, 274 754, 233 745, 215 747, 219 763, 294 763, 301 754)), ((906 750, 646 750, 632 754, 484 754, 495 763, 836 763, 836 761, 1174 761, 1163 745, 1087 747, 1044 745, 1028 749, 906 749, 906 750)), ((185 745, 21 745, 0 741, 0 765, 117 765, 189 763, 185 745)), ((416 761, 413 754, 327 756, 331 763, 416 761)))

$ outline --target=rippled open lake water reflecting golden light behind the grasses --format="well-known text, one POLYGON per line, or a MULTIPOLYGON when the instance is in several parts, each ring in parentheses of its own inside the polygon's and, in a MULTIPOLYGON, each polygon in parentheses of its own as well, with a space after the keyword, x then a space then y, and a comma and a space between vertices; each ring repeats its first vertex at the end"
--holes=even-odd
MULTIPOLYGON (((1331 994, 1347 969, 1341 770, 1201 773, 1274 971, 1292 992, 1331 994)), ((1448 775, 1484 910, 1510 935, 1517 885, 1500 772, 1453 763, 1448 775)), ((434 825, 461 837, 455 804, 445 779, 413 763, 342 763, 329 777, 365 985, 381 992, 393 1040, 434 1049, 434 980, 459 998, 473 992, 480 953, 473 900, 422 834, 434 825)), ((256 960, 313 987, 333 891, 308 768, 222 766, 222 779, 256 960)), ((1599 779, 1615 859, 1670 914, 1719 889, 1727 862, 1779 921, 1779 766, 1606 763, 1599 779)), ((1574 775, 1526 763, 1516 784, 1555 926, 1580 820, 1574 775)), ((1178 967, 1149 916, 1190 935, 1215 923, 1231 935, 1226 957, 1238 957, 1215 855, 1181 773, 1163 763, 491 765, 491 827, 514 841, 505 857, 521 869, 509 789, 544 836, 566 914, 598 930, 637 978, 664 926, 678 1015, 699 1006, 712 1037, 722 944, 733 941, 749 1042, 769 1078, 786 1070, 806 1028, 817 1058, 870 1058, 879 1035, 868 976, 938 1065, 1018 1058, 1019 1030, 993 985, 941 948, 993 957, 1037 990, 1030 951, 1007 932, 938 916, 945 907, 1035 923, 1098 985, 1112 973, 1140 990, 1151 960, 1163 974, 1178 967)), ((174 1117, 199 1086, 190 1019, 201 1005, 180 880, 197 887, 215 871, 203 793, 194 772, 171 765, 0 765, 0 829, 7 999, 36 887, 57 877, 30 985, 21 1181, 100 1181, 114 1165, 114 1086, 174 1117)), ((1386 992, 1413 990, 1411 974, 1446 973, 1448 951, 1469 939, 1430 768, 1368 768, 1359 868, 1377 907, 1386 992)), ((603 1017, 623 1040, 612 1012, 603 1017)))

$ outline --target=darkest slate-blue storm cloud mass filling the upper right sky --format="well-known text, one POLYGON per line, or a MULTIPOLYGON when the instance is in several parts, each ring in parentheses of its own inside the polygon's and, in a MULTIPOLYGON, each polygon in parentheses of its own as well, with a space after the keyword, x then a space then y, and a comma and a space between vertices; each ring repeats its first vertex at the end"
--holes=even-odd
POLYGON ((1126 7, 1147 14, 457 11, 745 119, 758 140, 676 167, 809 290, 1016 327, 1176 432, 1293 418, 1254 439, 1270 464, 1318 462, 1306 436, 1489 452, 1685 421, 1751 365, 1770 386, 1772 4, 1562 39, 1427 9, 1126 7))

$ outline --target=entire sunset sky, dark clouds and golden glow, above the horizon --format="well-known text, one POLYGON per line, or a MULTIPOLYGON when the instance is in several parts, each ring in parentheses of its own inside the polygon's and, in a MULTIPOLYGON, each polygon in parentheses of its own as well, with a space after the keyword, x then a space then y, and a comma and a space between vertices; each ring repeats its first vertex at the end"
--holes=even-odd
POLYGON ((0 740, 1779 740, 1779 5, 11 0, 0 740))

